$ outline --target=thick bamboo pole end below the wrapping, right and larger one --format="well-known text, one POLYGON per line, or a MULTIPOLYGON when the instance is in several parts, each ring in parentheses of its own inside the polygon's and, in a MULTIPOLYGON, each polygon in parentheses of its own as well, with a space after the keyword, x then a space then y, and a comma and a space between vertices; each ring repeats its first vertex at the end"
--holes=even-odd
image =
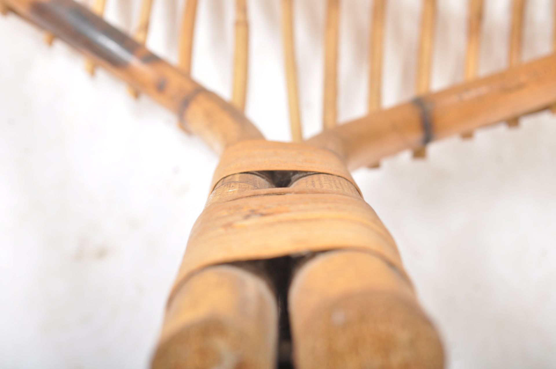
POLYGON ((442 368, 443 349, 409 283, 370 253, 332 251, 289 291, 297 369, 442 368))

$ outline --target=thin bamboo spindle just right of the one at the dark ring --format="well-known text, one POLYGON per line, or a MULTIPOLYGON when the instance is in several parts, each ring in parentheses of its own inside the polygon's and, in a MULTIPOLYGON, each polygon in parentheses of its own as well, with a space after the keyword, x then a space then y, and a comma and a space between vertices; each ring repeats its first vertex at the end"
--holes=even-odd
MULTIPOLYGON (((467 53, 465 56, 465 81, 476 78, 479 69, 479 47, 481 23, 483 21, 483 0, 469 0, 467 53)), ((462 138, 473 138, 473 131, 464 132, 462 138)))

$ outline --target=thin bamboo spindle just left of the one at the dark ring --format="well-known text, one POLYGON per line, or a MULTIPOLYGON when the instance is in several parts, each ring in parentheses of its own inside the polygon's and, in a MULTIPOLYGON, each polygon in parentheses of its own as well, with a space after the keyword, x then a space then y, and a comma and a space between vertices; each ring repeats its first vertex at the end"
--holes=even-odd
MULTIPOLYGON (((384 18, 386 0, 374 0, 371 18, 369 45, 369 96, 367 111, 380 109, 382 105, 382 74, 384 59, 384 18)), ((371 164, 369 168, 379 168, 380 162, 371 164)))

